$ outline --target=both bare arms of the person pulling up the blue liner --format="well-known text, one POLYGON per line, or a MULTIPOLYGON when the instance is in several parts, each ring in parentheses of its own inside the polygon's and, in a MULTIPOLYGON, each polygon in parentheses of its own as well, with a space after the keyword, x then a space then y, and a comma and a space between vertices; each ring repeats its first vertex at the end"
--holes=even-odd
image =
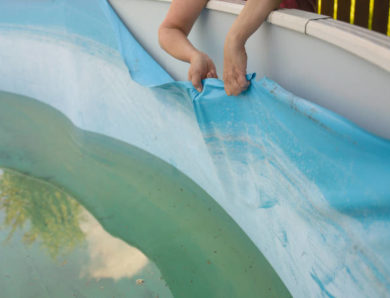
MULTIPOLYGON (((228 95, 238 95, 246 88, 247 55, 245 43, 249 36, 277 8, 281 0, 248 0, 225 40, 223 80, 228 95)), ((207 0, 173 0, 168 14, 159 28, 161 47, 177 59, 191 63, 188 79, 198 91, 201 80, 216 78, 214 63, 198 51, 187 39, 189 32, 206 5, 207 0)))

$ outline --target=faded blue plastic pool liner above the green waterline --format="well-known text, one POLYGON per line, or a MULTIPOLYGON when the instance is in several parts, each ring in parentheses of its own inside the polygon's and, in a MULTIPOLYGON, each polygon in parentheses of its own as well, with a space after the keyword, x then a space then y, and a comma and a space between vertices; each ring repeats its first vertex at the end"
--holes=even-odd
POLYGON ((174 82, 106 1, 0 0, 0 77, 187 174, 294 296, 389 295, 389 141, 267 78, 174 82))

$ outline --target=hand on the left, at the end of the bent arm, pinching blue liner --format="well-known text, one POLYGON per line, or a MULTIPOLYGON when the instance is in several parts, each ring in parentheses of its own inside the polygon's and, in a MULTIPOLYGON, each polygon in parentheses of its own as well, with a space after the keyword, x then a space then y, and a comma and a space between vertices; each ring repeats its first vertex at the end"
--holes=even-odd
POLYGON ((213 61, 205 53, 196 52, 190 60, 191 66, 188 71, 188 79, 192 85, 202 91, 202 80, 206 78, 218 78, 213 61))

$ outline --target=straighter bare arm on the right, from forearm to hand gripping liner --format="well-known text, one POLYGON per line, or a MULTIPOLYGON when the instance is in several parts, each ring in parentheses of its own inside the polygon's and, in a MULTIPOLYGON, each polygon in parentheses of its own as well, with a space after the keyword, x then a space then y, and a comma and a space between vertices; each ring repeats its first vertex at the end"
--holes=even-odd
POLYGON ((245 43, 281 0, 248 0, 226 36, 223 80, 228 95, 238 95, 249 86, 246 80, 245 43))

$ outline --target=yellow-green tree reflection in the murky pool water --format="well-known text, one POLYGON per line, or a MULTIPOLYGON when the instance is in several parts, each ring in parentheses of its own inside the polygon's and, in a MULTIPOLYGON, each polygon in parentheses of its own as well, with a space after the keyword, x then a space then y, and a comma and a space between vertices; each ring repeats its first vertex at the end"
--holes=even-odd
POLYGON ((5 213, 3 226, 9 229, 7 240, 17 229, 25 230, 23 242, 32 244, 39 239, 53 258, 84 240, 80 204, 48 184, 9 170, 2 172, 0 210, 5 213))

